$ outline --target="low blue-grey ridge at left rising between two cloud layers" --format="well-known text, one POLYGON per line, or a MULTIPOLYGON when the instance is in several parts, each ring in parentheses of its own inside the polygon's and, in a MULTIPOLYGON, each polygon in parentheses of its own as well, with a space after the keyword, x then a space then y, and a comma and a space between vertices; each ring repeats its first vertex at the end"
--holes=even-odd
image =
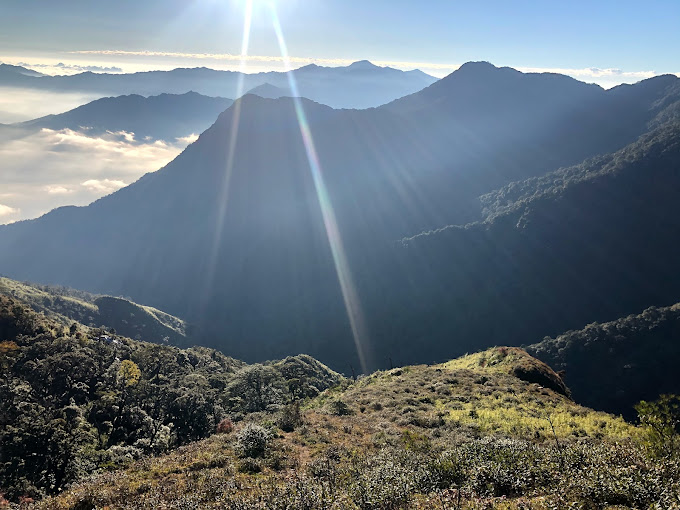
POLYGON ((231 106, 231 99, 207 97, 196 92, 107 97, 66 113, 11 124, 14 131, 47 129, 84 130, 92 134, 107 131, 134 133, 137 139, 174 141, 203 132, 217 116, 231 106))

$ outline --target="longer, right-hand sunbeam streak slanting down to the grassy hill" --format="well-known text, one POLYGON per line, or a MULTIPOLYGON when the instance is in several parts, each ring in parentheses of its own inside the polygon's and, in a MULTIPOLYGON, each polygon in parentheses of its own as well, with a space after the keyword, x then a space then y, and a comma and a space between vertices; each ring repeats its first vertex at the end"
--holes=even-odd
POLYGON ((309 128, 309 123, 307 122, 307 116, 305 115, 305 111, 302 106, 300 94, 298 93, 295 75, 291 71, 290 58, 288 56, 288 48, 286 46, 286 41, 283 37, 283 30, 281 29, 281 23, 279 21, 279 16, 276 11, 276 6, 273 3, 270 6, 274 30, 276 32, 276 38, 278 40, 279 48, 281 50, 281 56, 283 57, 286 69, 288 70, 287 72, 288 82, 290 85, 290 90, 293 93, 292 100, 294 101, 295 104, 295 114, 297 116, 298 124, 300 126, 300 133, 302 135, 302 141, 305 146, 305 152, 307 154, 309 168, 312 173, 312 179, 314 181, 314 188, 319 200, 319 206, 321 207, 321 214, 323 216, 323 222, 326 228, 326 236, 328 238, 328 243, 331 248, 331 253, 333 254, 335 271, 338 275, 338 281, 340 282, 340 290, 342 291, 342 297, 345 303, 347 317, 349 318, 350 327, 352 329, 354 344, 356 346, 359 362, 361 363, 361 369, 363 372, 366 372, 367 329, 363 317, 363 312, 361 311, 359 296, 357 294, 356 286, 354 285, 354 281, 352 279, 352 274, 350 272, 349 264, 347 262, 347 255, 345 254, 345 249, 342 244, 342 238, 340 237, 340 231, 338 229, 338 224, 335 219, 335 213, 333 212, 333 206, 331 204, 330 197, 328 195, 328 190, 326 189, 326 184, 323 179, 323 171, 321 163, 319 161, 319 157, 316 152, 316 147, 314 146, 312 132, 309 128))

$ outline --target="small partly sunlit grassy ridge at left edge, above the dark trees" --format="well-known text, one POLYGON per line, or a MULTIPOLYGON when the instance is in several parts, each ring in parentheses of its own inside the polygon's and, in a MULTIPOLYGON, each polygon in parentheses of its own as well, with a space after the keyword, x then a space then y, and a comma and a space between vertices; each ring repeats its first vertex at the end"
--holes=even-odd
POLYGON ((126 299, 4 277, 0 277, 0 295, 19 299, 64 325, 75 321, 90 327, 113 328, 123 336, 148 342, 185 347, 191 344, 182 319, 126 299))

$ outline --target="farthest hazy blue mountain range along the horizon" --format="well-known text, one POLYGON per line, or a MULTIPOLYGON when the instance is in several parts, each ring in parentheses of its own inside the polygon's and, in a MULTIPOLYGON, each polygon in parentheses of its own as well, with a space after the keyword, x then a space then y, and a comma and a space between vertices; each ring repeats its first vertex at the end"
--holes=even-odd
MULTIPOLYGON (((310 64, 290 73, 299 94, 334 108, 370 108, 417 92, 437 78, 422 71, 400 71, 368 61, 346 67, 310 64)), ((71 76, 45 76, 19 66, 0 65, 0 87, 24 87, 61 92, 99 93, 102 96, 185 94, 239 97, 240 93, 269 84, 292 96, 285 72, 244 74, 207 68, 149 71, 132 74, 84 72, 71 76), (242 81, 242 88, 240 83, 242 81)))

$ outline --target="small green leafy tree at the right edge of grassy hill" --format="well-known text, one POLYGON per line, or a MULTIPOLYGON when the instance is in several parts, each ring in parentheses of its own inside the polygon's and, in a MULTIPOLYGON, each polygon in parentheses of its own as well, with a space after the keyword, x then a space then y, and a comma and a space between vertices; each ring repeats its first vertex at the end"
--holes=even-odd
POLYGON ((635 406, 646 432, 647 446, 660 457, 680 451, 680 396, 660 395, 656 402, 641 401, 635 406))

